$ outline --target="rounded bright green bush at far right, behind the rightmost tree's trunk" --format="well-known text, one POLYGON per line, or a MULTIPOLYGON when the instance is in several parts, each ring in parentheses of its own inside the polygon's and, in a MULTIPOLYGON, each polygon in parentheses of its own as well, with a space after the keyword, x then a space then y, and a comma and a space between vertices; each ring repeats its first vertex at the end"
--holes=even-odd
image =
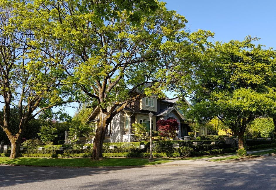
POLYGON ((247 135, 253 138, 270 138, 274 132, 272 118, 257 118, 250 122, 247 129, 247 135))

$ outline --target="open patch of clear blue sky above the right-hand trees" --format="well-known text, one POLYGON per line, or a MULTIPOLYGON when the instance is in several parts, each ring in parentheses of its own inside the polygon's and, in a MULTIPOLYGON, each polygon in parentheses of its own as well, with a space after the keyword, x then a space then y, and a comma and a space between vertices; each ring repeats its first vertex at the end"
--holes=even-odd
POLYGON ((188 20, 191 31, 210 30, 215 41, 243 40, 251 35, 258 43, 276 48, 276 1, 273 0, 163 0, 188 20))

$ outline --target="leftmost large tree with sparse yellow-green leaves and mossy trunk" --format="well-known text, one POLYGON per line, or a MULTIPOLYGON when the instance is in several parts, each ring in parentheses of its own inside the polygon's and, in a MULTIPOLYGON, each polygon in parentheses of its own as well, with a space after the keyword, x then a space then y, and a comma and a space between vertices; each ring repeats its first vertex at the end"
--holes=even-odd
POLYGON ((45 38, 42 23, 47 18, 34 17, 29 8, 25 2, 0 1, 0 96, 4 104, 0 126, 10 140, 11 158, 19 156, 21 138, 31 119, 72 101, 61 86, 68 75, 64 70, 73 68, 73 57, 45 38), (18 109, 17 126, 11 126, 11 106, 18 109))

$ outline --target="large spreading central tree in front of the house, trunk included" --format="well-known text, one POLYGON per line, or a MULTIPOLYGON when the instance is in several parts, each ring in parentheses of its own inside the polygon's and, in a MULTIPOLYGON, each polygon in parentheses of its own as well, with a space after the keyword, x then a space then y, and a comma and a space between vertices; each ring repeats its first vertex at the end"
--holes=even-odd
POLYGON ((162 96, 173 68, 200 56, 198 49, 212 36, 203 30, 188 33, 184 16, 154 0, 48 0, 28 9, 20 15, 34 15, 43 36, 75 56, 77 66, 73 74, 67 72, 66 88, 81 90, 79 97, 84 92, 100 109, 93 159, 102 157, 112 118, 133 101, 152 93, 162 96))

